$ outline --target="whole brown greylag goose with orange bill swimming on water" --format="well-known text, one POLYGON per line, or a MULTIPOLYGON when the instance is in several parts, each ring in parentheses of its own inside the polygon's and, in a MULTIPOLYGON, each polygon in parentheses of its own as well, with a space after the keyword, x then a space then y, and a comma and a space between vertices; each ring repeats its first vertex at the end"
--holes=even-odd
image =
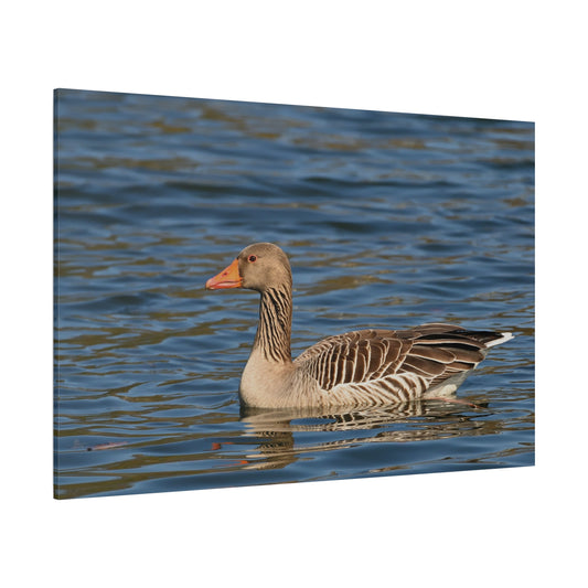
POLYGON ((206 288, 260 293, 257 333, 239 385, 248 407, 360 408, 446 397, 489 348, 513 336, 443 323, 366 329, 323 339, 292 361, 292 274, 277 245, 249 245, 206 288))

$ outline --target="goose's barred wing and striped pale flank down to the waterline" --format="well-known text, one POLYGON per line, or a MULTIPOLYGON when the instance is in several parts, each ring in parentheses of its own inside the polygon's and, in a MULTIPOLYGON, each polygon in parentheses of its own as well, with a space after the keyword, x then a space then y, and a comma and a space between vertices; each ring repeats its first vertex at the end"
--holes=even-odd
POLYGON ((320 341, 295 363, 330 402, 398 403, 443 383, 461 382, 502 336, 443 323, 406 331, 352 331, 320 341))

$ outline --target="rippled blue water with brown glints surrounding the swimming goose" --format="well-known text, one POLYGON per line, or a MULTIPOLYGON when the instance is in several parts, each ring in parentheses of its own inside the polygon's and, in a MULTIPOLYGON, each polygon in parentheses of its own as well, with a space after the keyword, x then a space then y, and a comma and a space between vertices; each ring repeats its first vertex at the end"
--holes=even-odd
POLYGON ((534 126, 61 90, 55 494, 534 463, 534 126), (512 331, 458 391, 247 414, 258 297, 206 279, 279 244, 292 353, 456 322, 512 331))

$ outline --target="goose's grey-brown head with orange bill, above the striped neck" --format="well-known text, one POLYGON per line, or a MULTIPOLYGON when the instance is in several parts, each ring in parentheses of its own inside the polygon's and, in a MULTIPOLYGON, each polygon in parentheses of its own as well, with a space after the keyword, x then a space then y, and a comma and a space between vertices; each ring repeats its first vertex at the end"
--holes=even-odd
POLYGON ((291 289, 292 274, 286 254, 272 243, 254 243, 243 249, 223 271, 206 281, 207 290, 247 288, 291 289))

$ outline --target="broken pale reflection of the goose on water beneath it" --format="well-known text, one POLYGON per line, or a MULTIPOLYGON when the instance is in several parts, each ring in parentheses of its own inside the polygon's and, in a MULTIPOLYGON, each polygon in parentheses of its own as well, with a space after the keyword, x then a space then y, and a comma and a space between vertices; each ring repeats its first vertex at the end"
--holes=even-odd
MULTIPOLYGON (((317 451, 359 443, 404 443, 496 432, 487 406, 447 400, 413 400, 350 413, 332 409, 242 408, 245 438, 256 438, 245 469, 284 468, 317 451), (464 405, 468 408, 464 410, 464 405), (351 435, 345 435, 351 432, 351 435)), ((308 457, 310 459, 310 456, 308 457)))

